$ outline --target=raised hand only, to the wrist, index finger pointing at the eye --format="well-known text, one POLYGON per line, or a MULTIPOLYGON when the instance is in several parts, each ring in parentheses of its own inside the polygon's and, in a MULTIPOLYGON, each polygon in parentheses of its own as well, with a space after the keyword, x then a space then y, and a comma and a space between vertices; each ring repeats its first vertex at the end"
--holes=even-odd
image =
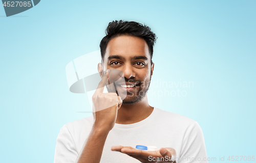
POLYGON ((116 93, 103 93, 108 82, 110 70, 103 75, 93 97, 94 129, 110 131, 116 122, 117 110, 122 105, 122 99, 116 93))

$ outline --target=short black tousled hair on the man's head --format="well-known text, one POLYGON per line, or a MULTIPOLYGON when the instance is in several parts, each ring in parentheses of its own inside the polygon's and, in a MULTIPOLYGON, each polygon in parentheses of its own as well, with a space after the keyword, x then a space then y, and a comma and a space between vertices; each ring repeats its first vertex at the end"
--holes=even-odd
POLYGON ((106 46, 109 41, 118 36, 136 36, 144 39, 147 43, 148 50, 151 55, 151 65, 153 57, 153 46, 156 43, 156 34, 151 31, 147 25, 135 21, 112 21, 105 30, 106 36, 100 41, 100 53, 102 61, 105 56, 106 46))

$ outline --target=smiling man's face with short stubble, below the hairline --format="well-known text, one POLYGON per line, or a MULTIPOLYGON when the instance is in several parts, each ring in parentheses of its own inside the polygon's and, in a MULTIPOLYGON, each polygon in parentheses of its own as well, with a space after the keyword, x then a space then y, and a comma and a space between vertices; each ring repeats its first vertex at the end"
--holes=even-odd
MULTIPOLYGON (((145 40, 139 37, 118 36, 111 39, 106 47, 103 70, 117 69, 123 72, 125 83, 116 82, 120 97, 127 94, 123 104, 135 104, 145 95, 150 86, 154 63, 145 40)), ((106 87, 109 92, 115 92, 106 87)))

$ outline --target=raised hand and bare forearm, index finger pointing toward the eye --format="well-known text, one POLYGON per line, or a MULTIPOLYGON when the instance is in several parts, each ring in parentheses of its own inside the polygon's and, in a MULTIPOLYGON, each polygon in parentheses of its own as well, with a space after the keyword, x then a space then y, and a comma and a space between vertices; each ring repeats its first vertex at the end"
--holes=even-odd
POLYGON ((108 75, 105 73, 92 97, 94 125, 77 158, 77 163, 99 163, 106 138, 115 125, 122 99, 116 93, 103 93, 107 81, 108 75))

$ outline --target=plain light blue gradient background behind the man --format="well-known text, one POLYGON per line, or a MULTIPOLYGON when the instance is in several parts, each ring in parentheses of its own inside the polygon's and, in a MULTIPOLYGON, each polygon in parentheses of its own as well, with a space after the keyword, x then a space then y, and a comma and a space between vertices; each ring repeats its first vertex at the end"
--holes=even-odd
POLYGON ((120 19, 145 23, 157 34, 152 82, 194 82, 179 88, 186 97, 149 96, 150 104, 198 121, 208 157, 256 155, 255 6, 45 0, 11 17, 0 7, 0 161, 53 162, 60 128, 91 116, 77 113, 91 110, 89 100, 69 92, 65 67, 99 50, 108 23, 120 19))

